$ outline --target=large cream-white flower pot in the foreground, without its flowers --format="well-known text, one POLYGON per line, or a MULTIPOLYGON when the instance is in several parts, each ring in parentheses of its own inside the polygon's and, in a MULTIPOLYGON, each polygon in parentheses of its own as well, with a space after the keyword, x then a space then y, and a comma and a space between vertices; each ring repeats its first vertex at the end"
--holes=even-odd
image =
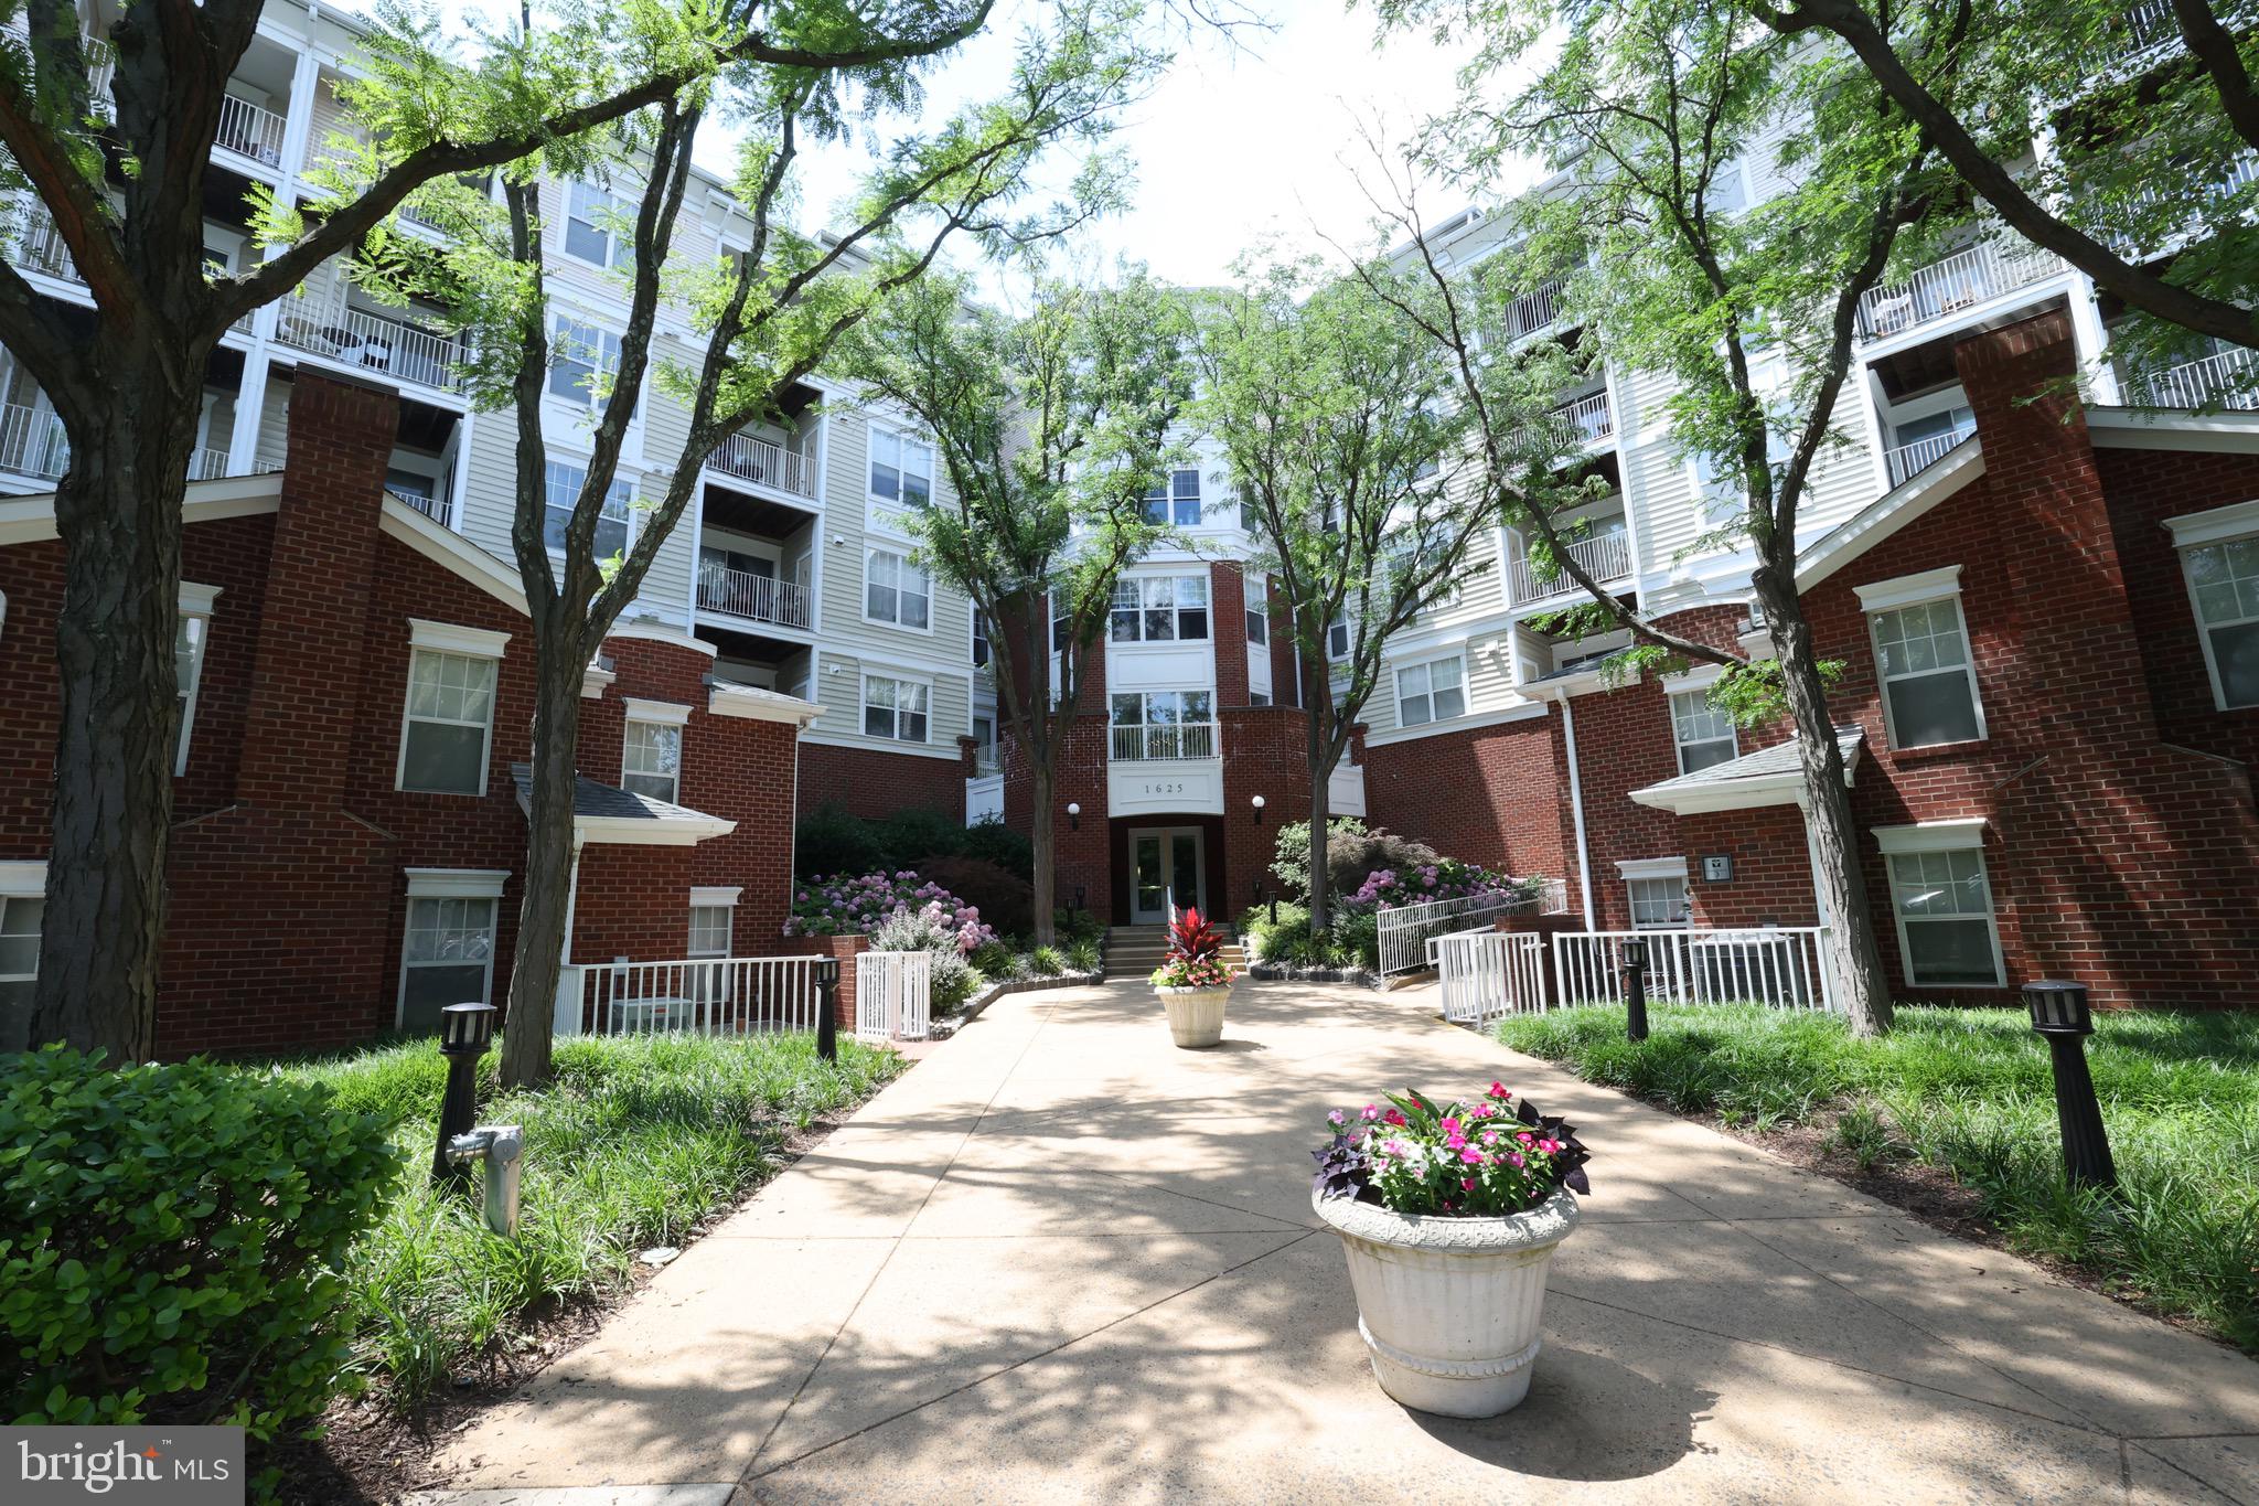
POLYGON ((1577 1228, 1568 1188, 1504 1219, 1389 1212, 1312 1197, 1349 1253, 1358 1332, 1380 1389, 1446 1418, 1493 1418, 1529 1395, 1545 1273, 1577 1228))

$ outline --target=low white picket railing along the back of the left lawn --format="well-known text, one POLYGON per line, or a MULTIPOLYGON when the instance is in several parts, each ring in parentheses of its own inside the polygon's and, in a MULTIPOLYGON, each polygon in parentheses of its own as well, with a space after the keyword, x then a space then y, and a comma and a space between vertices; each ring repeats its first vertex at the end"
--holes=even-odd
MULTIPOLYGON (((815 1030, 825 957, 689 957, 581 964, 581 1032, 782 1034, 815 1030)), ((567 980, 569 982, 569 980, 567 980)), ((569 1018, 560 1018, 565 1030, 569 1018)))

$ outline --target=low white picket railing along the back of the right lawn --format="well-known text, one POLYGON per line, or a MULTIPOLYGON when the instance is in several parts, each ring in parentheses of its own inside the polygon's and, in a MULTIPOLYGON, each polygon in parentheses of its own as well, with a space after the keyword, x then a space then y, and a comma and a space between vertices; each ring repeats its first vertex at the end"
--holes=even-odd
POLYGON ((1568 930, 1554 946, 1554 1002, 1624 1002, 1624 942, 1647 942, 1647 998, 1663 1005, 1834 1009, 1825 926, 1755 930, 1568 930))

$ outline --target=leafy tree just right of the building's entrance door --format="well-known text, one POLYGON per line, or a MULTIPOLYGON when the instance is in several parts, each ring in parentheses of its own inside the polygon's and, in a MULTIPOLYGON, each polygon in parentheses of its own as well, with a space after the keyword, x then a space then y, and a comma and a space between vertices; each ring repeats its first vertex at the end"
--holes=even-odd
MULTIPOLYGON (((1272 621, 1301 664, 1312 831, 1326 831, 1328 783, 1387 641, 1457 589, 1504 504, 1509 472, 1464 445, 1450 352, 1401 316, 1407 307, 1444 316, 1383 266, 1335 278, 1290 262, 1245 269, 1202 316, 1202 424, 1258 540, 1249 571, 1276 580, 1272 621)), ((1489 366, 1493 395, 1550 391, 1523 361, 1489 366)), ((1516 454, 1529 443, 1509 440, 1516 454)), ((1328 890, 1312 856, 1312 933, 1326 930, 1328 890)))

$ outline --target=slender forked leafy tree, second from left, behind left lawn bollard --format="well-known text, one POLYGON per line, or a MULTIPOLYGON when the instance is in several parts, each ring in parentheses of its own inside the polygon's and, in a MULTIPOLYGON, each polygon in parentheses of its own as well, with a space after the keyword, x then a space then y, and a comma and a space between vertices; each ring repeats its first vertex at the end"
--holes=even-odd
MULTIPOLYGON (((881 154, 840 233, 809 237, 784 219, 793 167, 806 140, 836 138, 852 124, 829 99, 820 70, 745 70, 718 84, 721 102, 748 126, 734 192, 750 219, 748 248, 716 266, 671 266, 675 224, 691 172, 691 142, 712 90, 694 86, 621 122, 619 129, 558 142, 501 174, 499 203, 441 192, 436 219, 452 219, 447 248, 404 273, 370 280, 450 298, 479 352, 468 368, 472 400, 506 409, 515 420, 517 492, 511 544, 533 619, 535 713, 529 797, 526 892, 511 971, 511 1030, 504 1039, 506 1084, 549 1077, 551 1000, 572 894, 574 779, 581 725, 581 680, 621 612, 635 603, 660 549, 698 494, 703 465, 748 422, 782 418, 782 400, 809 377, 843 334, 886 309, 890 298, 928 273, 953 235, 992 251, 1048 239, 1116 201, 1116 172, 1091 158, 1075 196, 1028 217, 1012 203, 1028 172, 1055 142, 1093 147, 1111 111, 1159 56, 1132 38, 1136 5, 1089 0, 1059 9, 1055 32, 1030 34, 1010 88, 992 104, 967 108, 940 129, 910 133, 881 154), (594 434, 581 490, 562 537, 549 528, 544 397, 551 366, 590 352, 551 339, 540 183, 608 172, 642 181, 633 221, 628 316, 617 370, 596 375, 594 434), (669 291, 687 296, 703 345, 694 359, 655 359, 653 325, 669 291), (635 537, 605 551, 599 542, 605 501, 619 472, 646 386, 657 384, 689 409, 689 438, 664 485, 644 504, 635 537)), ((865 70, 863 93, 901 99, 901 65, 865 70)), ((373 115, 393 108, 391 81, 361 95, 373 115)), ((626 214, 621 217, 626 221, 626 214)))

